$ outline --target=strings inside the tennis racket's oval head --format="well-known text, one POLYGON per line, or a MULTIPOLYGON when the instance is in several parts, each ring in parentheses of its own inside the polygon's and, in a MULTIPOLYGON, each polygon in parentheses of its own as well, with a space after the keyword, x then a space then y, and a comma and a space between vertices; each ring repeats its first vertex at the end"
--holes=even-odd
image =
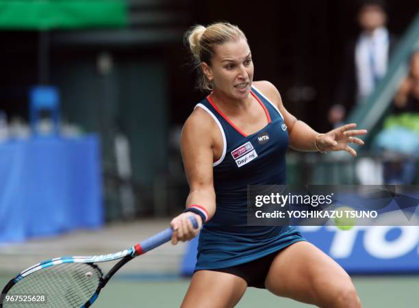
MULTIPOLYGON (((97 290, 101 272, 91 264, 58 264, 38 270, 18 281, 6 295, 45 295, 42 307, 80 307, 97 290)), ((33 307, 34 303, 5 302, 4 307, 33 307)))

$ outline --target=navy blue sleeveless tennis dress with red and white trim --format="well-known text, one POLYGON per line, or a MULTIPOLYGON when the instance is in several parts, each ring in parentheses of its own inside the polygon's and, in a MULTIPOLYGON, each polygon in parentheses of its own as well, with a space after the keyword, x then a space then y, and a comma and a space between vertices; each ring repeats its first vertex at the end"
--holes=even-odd
POLYGON ((251 95, 264 108, 268 125, 249 136, 210 97, 196 105, 214 118, 224 148, 214 162, 216 213, 201 230, 195 270, 238 266, 305 240, 294 227, 246 225, 247 185, 285 184, 288 148, 287 127, 277 107, 254 86, 251 95))

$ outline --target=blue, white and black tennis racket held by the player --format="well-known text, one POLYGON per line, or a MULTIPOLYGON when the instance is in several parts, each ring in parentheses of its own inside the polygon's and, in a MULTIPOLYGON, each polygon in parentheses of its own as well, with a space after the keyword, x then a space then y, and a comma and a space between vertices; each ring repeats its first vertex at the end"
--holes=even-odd
MULTIPOLYGON (((197 229, 195 218, 191 216, 190 220, 197 229)), ((31 266, 5 285, 0 308, 34 307, 36 303, 45 304, 39 307, 51 308, 90 307, 116 271, 138 255, 168 242, 172 235, 173 229, 168 228, 118 253, 60 257, 31 266), (97 263, 117 259, 120 261, 103 276, 97 263)))

